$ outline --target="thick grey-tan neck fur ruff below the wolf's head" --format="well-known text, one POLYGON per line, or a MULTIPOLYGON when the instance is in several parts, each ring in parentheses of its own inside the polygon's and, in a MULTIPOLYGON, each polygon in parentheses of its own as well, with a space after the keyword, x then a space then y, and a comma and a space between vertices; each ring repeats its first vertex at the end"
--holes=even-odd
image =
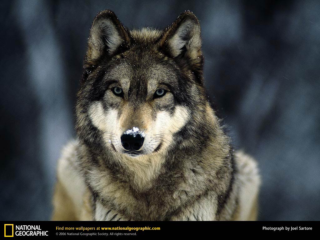
POLYGON ((153 211, 150 216, 151 209, 178 211, 174 206, 206 191, 224 195, 230 181, 223 177, 231 164, 228 137, 209 104, 192 121, 161 154, 132 159, 110 150, 97 153, 82 144, 79 156, 87 184, 105 206, 116 204, 127 214, 140 214, 140 219, 161 219, 157 214, 166 212, 153 211), (199 129, 196 124, 202 132, 194 132, 199 129))

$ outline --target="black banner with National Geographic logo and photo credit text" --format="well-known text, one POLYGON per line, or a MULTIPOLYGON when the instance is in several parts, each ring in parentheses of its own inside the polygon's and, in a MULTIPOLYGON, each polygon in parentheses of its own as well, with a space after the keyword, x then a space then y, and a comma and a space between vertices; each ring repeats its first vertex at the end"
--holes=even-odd
MULTIPOLYGON (((3 221, 0 238, 121 238, 197 237, 233 234, 277 236, 319 233, 317 221, 276 222, 156 222, 156 221, 3 221)), ((249 236, 248 235, 248 236, 249 236)))

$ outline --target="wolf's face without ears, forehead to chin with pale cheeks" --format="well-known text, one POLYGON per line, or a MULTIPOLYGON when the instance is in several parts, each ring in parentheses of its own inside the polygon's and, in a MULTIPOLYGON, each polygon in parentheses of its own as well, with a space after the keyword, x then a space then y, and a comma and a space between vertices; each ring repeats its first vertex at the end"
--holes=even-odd
POLYGON ((131 157, 161 152, 189 118, 175 101, 174 62, 150 51, 132 49, 111 60, 101 80, 106 90, 89 108, 105 144, 131 157))

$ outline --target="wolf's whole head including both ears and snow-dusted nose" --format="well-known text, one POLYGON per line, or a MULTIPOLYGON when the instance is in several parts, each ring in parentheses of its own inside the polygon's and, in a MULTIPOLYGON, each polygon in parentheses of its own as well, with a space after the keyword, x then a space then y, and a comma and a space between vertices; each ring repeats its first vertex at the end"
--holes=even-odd
POLYGON ((196 17, 185 12, 164 32, 129 32, 103 11, 88 45, 76 106, 79 137, 126 157, 172 147, 194 108, 206 102, 196 17))

